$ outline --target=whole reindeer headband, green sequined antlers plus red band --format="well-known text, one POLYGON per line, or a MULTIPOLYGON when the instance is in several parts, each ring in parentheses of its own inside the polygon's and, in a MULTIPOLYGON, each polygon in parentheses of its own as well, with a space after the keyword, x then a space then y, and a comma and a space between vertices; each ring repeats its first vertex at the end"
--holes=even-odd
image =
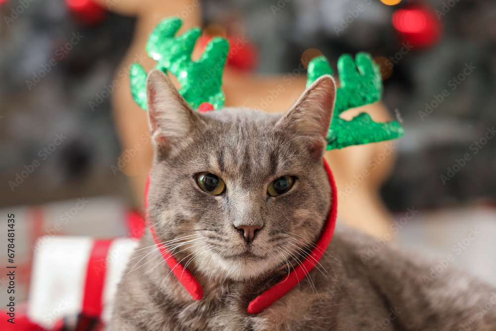
MULTIPOLYGON (((150 57, 157 61, 156 68, 172 72, 179 82, 186 102, 194 109, 203 109, 204 105, 210 109, 220 109, 224 106, 224 93, 222 92, 222 70, 229 51, 229 44, 223 38, 214 38, 206 47, 200 59, 191 60, 193 47, 200 36, 200 29, 193 28, 176 37, 182 25, 182 20, 177 17, 163 20, 152 32, 146 50, 150 57)), ((378 67, 373 64, 369 54, 357 55, 356 64, 349 55, 344 55, 338 60, 339 78, 341 87, 337 90, 336 104, 329 134, 327 136, 327 149, 343 148, 350 145, 376 142, 393 139, 403 134, 403 128, 396 122, 376 123, 366 113, 361 113, 351 121, 343 120, 340 114, 347 109, 363 106, 380 100, 382 92, 381 77, 378 67), (357 71, 358 68, 358 71, 357 71)), ((308 67, 308 82, 310 84, 323 74, 332 74, 329 63, 324 57, 310 61, 308 67)), ((131 91, 134 101, 146 109, 146 71, 139 64, 131 66, 131 91)), ((315 266, 327 249, 334 232, 337 215, 337 189, 332 172, 323 160, 329 185, 331 187, 331 206, 327 215, 320 238, 300 265, 274 286, 265 290, 248 304, 250 314, 259 313, 261 310, 277 301, 296 284, 298 284, 315 266)), ((148 205, 148 177, 145 190, 145 206, 148 205)), ((150 231, 155 244, 171 272, 177 276, 185 289, 194 300, 203 298, 203 288, 194 275, 178 262, 167 247, 155 235, 153 225, 150 231)))

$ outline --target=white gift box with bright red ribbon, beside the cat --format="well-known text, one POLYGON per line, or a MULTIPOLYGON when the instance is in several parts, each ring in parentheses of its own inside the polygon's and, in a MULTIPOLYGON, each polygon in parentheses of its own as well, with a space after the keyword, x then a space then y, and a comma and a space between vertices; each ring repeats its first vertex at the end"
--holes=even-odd
MULTIPOLYGON (((27 318, 47 330, 81 316, 110 321, 113 298, 138 240, 41 237, 34 255, 27 318)), ((19 329, 21 330, 21 329, 19 329)), ((93 329, 91 329, 93 330, 93 329)))

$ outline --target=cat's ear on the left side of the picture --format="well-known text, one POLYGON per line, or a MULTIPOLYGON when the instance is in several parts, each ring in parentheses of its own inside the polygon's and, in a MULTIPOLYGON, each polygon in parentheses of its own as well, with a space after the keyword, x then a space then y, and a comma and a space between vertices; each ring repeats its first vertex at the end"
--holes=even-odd
POLYGON ((163 71, 153 69, 146 80, 148 124, 157 151, 167 153, 172 144, 186 140, 203 121, 163 71))

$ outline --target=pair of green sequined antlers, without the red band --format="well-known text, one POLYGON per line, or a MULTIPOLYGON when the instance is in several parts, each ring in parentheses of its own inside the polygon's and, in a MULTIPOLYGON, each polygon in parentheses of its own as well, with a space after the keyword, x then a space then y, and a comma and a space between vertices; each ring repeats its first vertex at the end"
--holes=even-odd
MULTIPOLYGON (((214 109, 221 109, 225 101, 222 72, 229 43, 224 38, 215 37, 201 57, 193 61, 191 53, 201 30, 196 27, 176 36, 182 24, 183 20, 179 17, 166 18, 160 22, 148 38, 146 51, 157 61, 157 69, 166 73, 170 71, 177 77, 181 83, 179 93, 193 109, 198 109, 204 102, 211 104, 214 109)), ((350 121, 341 118, 340 115, 348 109, 379 101, 382 79, 379 67, 368 53, 358 53, 355 61, 351 56, 343 55, 338 59, 337 66, 341 86, 337 89, 327 135, 327 150, 402 136, 404 130, 396 121, 374 122, 367 113, 360 113, 350 121)), ((307 87, 323 74, 333 74, 327 59, 323 56, 312 59, 308 66, 307 87)), ((134 101, 146 110, 146 71, 141 65, 131 65, 130 81, 134 101)))

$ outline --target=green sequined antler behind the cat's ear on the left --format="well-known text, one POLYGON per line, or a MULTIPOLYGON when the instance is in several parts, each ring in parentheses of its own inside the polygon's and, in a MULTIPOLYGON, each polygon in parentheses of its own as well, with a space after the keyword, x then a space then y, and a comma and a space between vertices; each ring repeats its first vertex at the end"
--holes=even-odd
MULTIPOLYGON (((208 43, 201 57, 191 60, 200 28, 187 30, 180 36, 176 33, 183 25, 179 17, 169 17, 160 22, 148 38, 146 51, 157 61, 155 66, 167 73, 172 72, 181 83, 179 93, 186 102, 197 109, 202 102, 209 102, 215 109, 224 106, 222 71, 229 51, 226 39, 215 37, 208 43)), ((134 101, 146 110, 146 71, 137 63, 130 70, 131 93, 134 101)))

